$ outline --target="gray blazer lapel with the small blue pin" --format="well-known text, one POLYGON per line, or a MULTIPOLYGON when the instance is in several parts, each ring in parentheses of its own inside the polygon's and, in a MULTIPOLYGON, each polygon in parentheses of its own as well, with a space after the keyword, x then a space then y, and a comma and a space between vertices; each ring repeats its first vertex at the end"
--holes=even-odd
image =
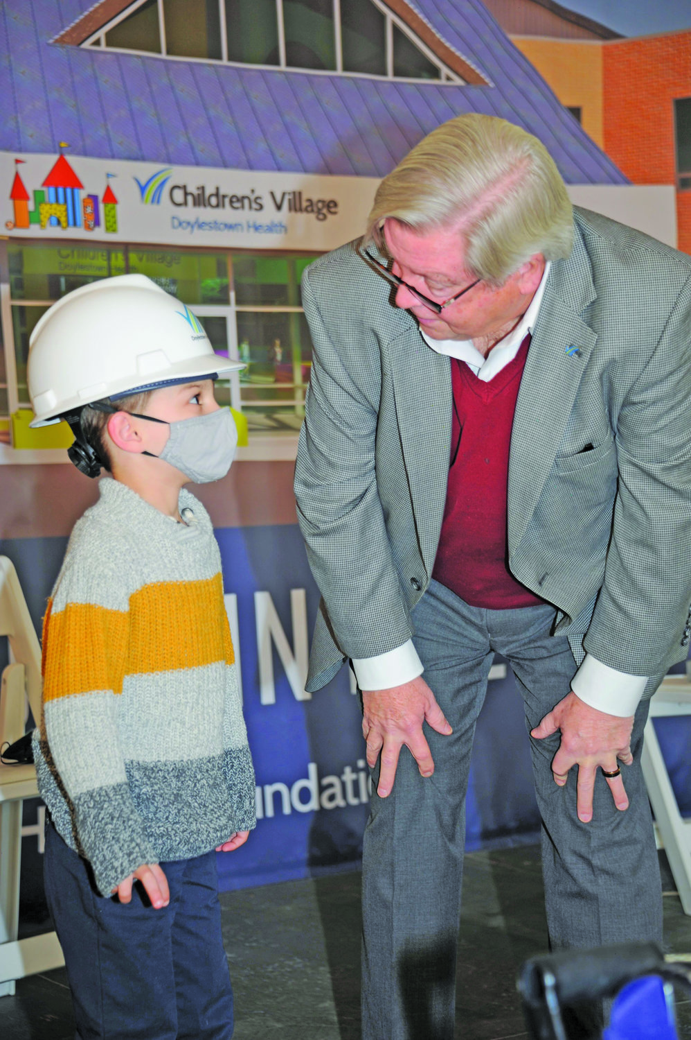
POLYGON ((510 555, 535 510, 597 339, 581 318, 595 295, 576 229, 570 257, 556 261, 550 271, 519 391, 509 456, 510 555))

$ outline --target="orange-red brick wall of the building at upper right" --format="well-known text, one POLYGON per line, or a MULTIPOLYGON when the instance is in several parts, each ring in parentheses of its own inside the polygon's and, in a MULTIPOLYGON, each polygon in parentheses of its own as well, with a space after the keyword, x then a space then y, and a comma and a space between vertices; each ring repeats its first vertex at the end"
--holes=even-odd
MULTIPOLYGON (((691 30, 603 47, 605 151, 635 184, 674 184, 674 98, 691 97, 691 30)), ((676 194, 679 248, 691 253, 691 196, 676 194)))

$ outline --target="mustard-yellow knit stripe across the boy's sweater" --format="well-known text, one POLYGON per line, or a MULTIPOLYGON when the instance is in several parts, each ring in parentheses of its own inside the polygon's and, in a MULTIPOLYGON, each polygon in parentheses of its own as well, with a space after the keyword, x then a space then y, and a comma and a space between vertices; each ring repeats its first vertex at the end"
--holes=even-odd
POLYGON ((130 610, 51 604, 44 623, 44 700, 123 691, 127 675, 235 660, 220 574, 161 581, 130 597, 130 610))

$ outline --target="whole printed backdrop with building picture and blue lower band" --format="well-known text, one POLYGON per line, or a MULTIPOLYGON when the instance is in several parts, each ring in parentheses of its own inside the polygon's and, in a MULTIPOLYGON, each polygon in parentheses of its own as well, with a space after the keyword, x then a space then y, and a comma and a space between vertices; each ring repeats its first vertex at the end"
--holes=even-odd
MULTIPOLYGON (((318 593, 292 496, 311 367, 302 270, 362 233, 379 179, 413 146, 471 111, 538 136, 576 203, 691 251, 689 5, 624 6, 626 17, 607 0, 0 8, 0 552, 36 631, 71 528, 97 497, 68 462, 67 427, 29 428, 41 315, 80 285, 138 271, 245 363, 217 385, 238 425, 236 462, 194 489, 220 545, 258 784, 256 832, 219 858, 223 888, 356 866, 367 818, 350 674, 303 688, 318 593)), ((691 811, 688 731, 662 720, 660 735, 691 811)), ((45 917, 42 821, 27 801, 25 931, 45 917)), ((522 702, 497 659, 468 848, 537 833, 522 702)))

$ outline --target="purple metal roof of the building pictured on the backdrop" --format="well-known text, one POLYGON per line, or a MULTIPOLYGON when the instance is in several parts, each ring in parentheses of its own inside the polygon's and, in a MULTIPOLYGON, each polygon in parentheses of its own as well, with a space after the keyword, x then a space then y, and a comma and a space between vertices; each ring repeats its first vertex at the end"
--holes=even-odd
POLYGON ((487 86, 123 54, 50 44, 92 0, 0 5, 0 150, 177 165, 382 177, 445 120, 501 115, 539 137, 572 184, 627 178, 480 0, 409 4, 487 86))

